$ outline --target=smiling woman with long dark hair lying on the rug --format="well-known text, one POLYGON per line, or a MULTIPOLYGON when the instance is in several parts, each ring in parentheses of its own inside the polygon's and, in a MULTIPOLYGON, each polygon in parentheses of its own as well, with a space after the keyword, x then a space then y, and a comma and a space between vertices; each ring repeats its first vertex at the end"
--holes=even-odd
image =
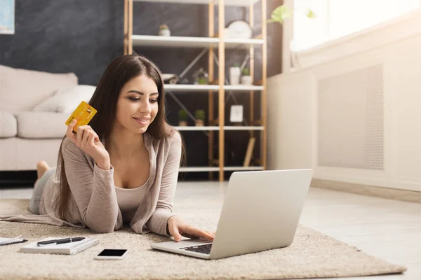
POLYGON ((29 209, 37 215, 1 216, 23 221, 155 232, 180 241, 213 239, 213 232, 173 214, 173 198, 184 148, 166 122, 159 69, 145 57, 125 55, 109 64, 91 101, 91 125, 67 127, 57 168, 39 162, 29 209), (55 176, 53 176, 55 175, 55 176))

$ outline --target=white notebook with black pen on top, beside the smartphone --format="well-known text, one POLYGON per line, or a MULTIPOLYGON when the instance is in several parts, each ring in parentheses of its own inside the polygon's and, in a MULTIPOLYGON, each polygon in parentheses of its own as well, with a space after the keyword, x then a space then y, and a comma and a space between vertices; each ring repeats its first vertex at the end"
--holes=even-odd
MULTIPOLYGON (((61 239, 65 237, 47 237, 39 241, 47 241, 51 239, 61 239)), ((39 242, 36 241, 36 242, 39 242)), ((62 254, 62 255, 74 255, 81 251, 85 251, 87 248, 97 245, 100 241, 96 238, 88 238, 81 241, 75 241, 70 243, 58 244, 58 245, 48 245, 48 246, 38 246, 36 242, 27 244, 20 248, 22 253, 52 253, 52 254, 62 254)))

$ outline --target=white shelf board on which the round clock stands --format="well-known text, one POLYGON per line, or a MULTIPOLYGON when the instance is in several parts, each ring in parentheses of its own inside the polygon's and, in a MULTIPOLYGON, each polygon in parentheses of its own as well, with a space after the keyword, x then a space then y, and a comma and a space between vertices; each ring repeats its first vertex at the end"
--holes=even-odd
MULTIPOLYGON (((133 45, 148 47, 178 47, 178 48, 218 48, 219 38, 211 37, 183 37, 183 36, 156 36, 133 35, 133 45)), ((252 45, 262 45, 263 39, 224 39, 225 48, 250 48, 252 45)))

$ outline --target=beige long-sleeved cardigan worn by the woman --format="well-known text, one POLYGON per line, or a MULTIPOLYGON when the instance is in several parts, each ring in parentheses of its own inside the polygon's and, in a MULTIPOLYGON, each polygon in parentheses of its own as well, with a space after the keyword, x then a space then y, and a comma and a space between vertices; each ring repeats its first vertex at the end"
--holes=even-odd
MULTIPOLYGON (((144 141, 150 161, 148 191, 146 203, 140 205, 130 227, 138 233, 151 231, 168 235, 168 218, 176 216, 173 214, 173 199, 180 167, 181 137, 174 132, 172 137, 158 140, 146 132, 144 141)), ((62 154, 72 193, 67 221, 56 216, 59 202, 56 176, 51 176, 44 187, 40 215, 0 215, 0 221, 88 227, 95 232, 119 230, 123 221, 114 188, 114 167, 100 169, 90 155, 67 138, 62 145, 62 154)))

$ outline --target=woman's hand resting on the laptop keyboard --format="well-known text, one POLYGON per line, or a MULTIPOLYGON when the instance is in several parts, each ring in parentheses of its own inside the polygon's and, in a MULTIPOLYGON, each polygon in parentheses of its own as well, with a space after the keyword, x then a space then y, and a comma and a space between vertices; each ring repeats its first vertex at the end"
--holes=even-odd
POLYGON ((168 219, 168 230, 176 242, 180 241, 182 236, 188 238, 203 237, 209 240, 213 240, 213 237, 215 237, 215 232, 195 228, 194 226, 189 225, 183 221, 182 218, 178 216, 173 216, 168 219))

